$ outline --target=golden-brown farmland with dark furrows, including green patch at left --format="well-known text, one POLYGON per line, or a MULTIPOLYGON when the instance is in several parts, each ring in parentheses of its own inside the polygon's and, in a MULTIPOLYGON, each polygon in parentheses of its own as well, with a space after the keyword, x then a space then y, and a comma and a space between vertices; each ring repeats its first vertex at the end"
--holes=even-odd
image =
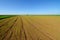
POLYGON ((0 18, 0 40, 60 40, 60 16, 0 18))

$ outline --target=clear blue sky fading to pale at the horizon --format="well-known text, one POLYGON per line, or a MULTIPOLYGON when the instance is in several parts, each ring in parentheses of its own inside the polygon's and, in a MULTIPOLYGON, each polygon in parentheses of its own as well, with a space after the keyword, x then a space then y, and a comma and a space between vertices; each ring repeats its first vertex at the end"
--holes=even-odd
POLYGON ((0 0, 0 14, 60 14, 60 1, 0 0))

